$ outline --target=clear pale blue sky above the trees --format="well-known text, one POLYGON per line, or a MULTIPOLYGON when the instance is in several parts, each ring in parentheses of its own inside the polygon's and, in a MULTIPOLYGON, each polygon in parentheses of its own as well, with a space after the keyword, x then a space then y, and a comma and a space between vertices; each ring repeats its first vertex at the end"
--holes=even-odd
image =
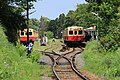
POLYGON ((35 11, 30 15, 30 18, 40 19, 41 16, 48 17, 49 19, 55 19, 59 17, 61 13, 65 15, 69 10, 75 10, 77 4, 83 4, 85 0, 38 0, 33 3, 35 11))

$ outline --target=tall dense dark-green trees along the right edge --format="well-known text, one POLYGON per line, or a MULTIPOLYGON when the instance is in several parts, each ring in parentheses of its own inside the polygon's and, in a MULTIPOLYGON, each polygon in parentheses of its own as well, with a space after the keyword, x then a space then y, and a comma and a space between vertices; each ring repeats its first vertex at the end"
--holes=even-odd
MULTIPOLYGON (((120 46, 119 7, 120 0, 86 0, 90 11, 98 13, 101 24, 98 26, 100 43, 106 50, 120 46)), ((113 49, 114 50, 114 49, 113 49)))

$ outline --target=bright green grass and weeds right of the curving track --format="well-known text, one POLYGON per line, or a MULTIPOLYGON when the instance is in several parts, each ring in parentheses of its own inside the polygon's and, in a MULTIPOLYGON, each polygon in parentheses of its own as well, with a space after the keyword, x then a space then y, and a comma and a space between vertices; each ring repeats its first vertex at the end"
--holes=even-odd
POLYGON ((114 52, 98 51, 96 41, 87 43, 83 52, 84 69, 108 80, 120 80, 120 47, 114 52))

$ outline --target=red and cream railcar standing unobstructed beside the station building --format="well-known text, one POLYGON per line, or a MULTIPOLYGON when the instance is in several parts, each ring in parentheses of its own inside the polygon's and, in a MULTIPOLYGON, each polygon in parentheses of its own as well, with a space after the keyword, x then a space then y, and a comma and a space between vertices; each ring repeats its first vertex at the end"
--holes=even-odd
POLYGON ((65 28, 63 32, 64 43, 69 46, 73 44, 80 44, 84 41, 84 29, 79 26, 71 26, 65 28))

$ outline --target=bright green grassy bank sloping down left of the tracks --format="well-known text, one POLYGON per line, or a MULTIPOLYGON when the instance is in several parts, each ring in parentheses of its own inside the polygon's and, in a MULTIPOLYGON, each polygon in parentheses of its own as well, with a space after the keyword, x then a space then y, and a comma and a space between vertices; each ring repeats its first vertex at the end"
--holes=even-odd
POLYGON ((48 66, 37 63, 39 52, 33 49, 27 58, 25 46, 9 43, 1 26, 0 35, 0 80, 40 80, 40 76, 50 72, 48 66))

